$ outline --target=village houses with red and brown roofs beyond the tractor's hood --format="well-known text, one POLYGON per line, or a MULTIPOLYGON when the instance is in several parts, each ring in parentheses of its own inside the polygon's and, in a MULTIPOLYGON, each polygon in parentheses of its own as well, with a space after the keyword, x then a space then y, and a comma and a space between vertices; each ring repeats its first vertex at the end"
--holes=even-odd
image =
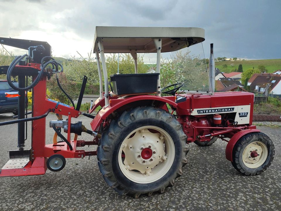
POLYGON ((281 97, 281 70, 273 73, 254 73, 245 85, 241 84, 242 72, 221 72, 215 69, 215 90, 225 91, 250 91, 271 97, 281 97))

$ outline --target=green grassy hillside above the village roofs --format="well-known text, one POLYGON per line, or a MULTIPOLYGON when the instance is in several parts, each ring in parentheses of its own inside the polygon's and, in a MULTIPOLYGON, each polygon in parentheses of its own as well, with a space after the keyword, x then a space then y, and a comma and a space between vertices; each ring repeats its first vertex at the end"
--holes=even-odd
POLYGON ((264 65, 269 73, 275 72, 281 69, 281 59, 261 59, 261 60, 246 60, 246 61, 225 61, 225 62, 215 62, 216 67, 222 72, 235 72, 235 68, 238 69, 239 64, 242 64, 243 71, 249 68, 258 68, 258 65, 264 65), (227 69, 222 68, 222 65, 227 64, 227 69), (231 67, 230 64, 234 64, 231 67))

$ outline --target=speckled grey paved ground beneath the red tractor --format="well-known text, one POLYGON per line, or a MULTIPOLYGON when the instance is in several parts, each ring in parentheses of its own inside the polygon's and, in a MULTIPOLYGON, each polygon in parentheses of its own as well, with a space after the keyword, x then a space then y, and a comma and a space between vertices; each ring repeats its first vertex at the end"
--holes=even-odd
MULTIPOLYGON (((48 115, 47 122, 52 119, 56 117, 48 115)), ((0 115, 0 121, 5 120, 11 115, 0 115)), ((80 120, 89 126, 90 119, 80 120)), ((67 159, 57 173, 0 178, 0 210, 281 210, 281 130, 258 128, 271 137, 276 151, 270 168, 259 176, 241 176, 232 167, 225 159, 226 142, 218 140, 205 148, 190 144, 189 163, 175 186, 163 194, 133 199, 107 186, 96 157, 67 159)), ((53 133, 48 127, 47 143, 53 133)), ((16 149, 17 126, 2 126, 0 137, 3 166, 8 151, 16 149)), ((83 138, 91 139, 87 134, 83 138)))

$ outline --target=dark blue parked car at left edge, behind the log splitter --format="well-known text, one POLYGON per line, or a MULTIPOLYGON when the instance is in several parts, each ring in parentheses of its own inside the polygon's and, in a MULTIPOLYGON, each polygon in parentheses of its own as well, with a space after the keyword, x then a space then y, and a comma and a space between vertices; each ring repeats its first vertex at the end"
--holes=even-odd
MULTIPOLYGON (((16 86, 18 82, 12 81, 16 86)), ((0 80, 0 113, 13 112, 18 115, 18 91, 11 88, 7 80, 0 80)))

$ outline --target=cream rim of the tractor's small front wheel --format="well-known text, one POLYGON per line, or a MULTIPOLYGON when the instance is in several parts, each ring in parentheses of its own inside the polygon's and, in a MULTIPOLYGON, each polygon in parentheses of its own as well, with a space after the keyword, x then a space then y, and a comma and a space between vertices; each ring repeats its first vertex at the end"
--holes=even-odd
POLYGON ((244 165, 255 169, 264 164, 268 156, 268 149, 262 142, 252 142, 246 146, 242 156, 244 165))

